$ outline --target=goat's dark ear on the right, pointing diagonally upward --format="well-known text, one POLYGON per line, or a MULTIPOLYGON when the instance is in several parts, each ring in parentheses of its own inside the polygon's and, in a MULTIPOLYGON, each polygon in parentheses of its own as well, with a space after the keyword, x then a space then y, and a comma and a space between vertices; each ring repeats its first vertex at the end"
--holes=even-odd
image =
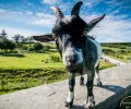
POLYGON ((105 14, 103 14, 102 16, 95 19, 95 20, 92 20, 91 22, 87 23, 87 28, 86 31, 90 32, 91 29, 93 29, 93 27, 99 22, 102 21, 103 19, 105 17, 105 14))

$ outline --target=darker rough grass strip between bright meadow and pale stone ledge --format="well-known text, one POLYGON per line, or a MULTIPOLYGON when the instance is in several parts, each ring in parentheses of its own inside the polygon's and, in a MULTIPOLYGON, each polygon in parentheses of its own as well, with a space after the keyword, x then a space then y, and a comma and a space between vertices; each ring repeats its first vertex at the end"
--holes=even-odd
POLYGON ((36 70, 4 70, 0 73, 0 95, 43 84, 66 80, 68 73, 64 69, 36 69, 36 70))

